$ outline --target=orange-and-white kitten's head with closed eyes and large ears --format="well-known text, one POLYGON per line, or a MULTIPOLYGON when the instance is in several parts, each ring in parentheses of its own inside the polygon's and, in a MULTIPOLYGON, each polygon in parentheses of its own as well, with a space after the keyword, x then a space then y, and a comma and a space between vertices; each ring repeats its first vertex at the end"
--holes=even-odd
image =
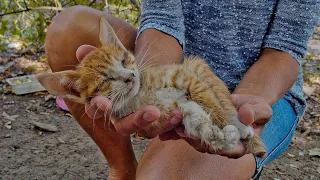
POLYGON ((78 103, 97 95, 107 96, 118 107, 134 97, 140 88, 135 58, 125 49, 105 18, 100 19, 101 48, 90 52, 75 70, 38 76, 52 94, 78 103))

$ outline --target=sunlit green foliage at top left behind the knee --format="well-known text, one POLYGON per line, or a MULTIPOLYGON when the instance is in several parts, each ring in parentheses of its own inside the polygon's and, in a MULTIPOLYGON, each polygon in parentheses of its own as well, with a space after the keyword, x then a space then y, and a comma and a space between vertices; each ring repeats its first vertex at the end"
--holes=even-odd
POLYGON ((108 10, 135 26, 139 24, 139 0, 1 0, 0 50, 6 51, 12 42, 40 49, 52 18, 74 5, 108 10))

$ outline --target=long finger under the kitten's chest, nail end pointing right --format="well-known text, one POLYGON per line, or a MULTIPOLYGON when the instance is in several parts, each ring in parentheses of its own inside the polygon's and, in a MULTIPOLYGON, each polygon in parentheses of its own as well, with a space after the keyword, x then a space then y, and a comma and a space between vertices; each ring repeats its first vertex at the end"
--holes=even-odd
POLYGON ((160 117, 160 110, 155 106, 146 106, 143 109, 113 122, 116 130, 123 134, 132 134, 160 117))

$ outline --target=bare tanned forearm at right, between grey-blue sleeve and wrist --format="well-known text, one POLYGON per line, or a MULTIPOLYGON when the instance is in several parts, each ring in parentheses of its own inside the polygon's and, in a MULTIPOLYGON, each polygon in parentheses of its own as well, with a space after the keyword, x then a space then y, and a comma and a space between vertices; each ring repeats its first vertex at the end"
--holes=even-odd
POLYGON ((266 48, 234 93, 261 96, 271 106, 291 88, 298 72, 299 64, 292 56, 266 48))

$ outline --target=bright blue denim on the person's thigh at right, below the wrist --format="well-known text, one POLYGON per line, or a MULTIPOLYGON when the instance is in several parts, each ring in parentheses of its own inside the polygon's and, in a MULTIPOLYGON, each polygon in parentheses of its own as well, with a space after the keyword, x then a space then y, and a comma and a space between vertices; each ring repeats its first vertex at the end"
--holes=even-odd
POLYGON ((272 118, 260 135, 267 148, 267 156, 256 158, 255 176, 260 174, 264 165, 279 157, 287 149, 299 122, 292 106, 284 98, 273 104, 272 110, 272 118))

